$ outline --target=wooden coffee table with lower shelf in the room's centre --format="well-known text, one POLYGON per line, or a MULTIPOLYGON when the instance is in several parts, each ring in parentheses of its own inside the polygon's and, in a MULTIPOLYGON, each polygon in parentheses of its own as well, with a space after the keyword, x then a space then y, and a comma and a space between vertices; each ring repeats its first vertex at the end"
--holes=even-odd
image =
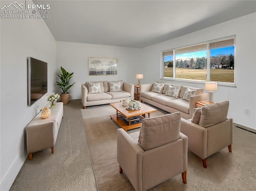
POLYGON ((122 102, 117 102, 117 103, 111 103, 110 105, 116 109, 116 114, 114 115, 110 115, 110 118, 112 120, 114 120, 114 122, 116 122, 120 127, 122 127, 126 132, 127 130, 130 129, 135 129, 138 127, 141 127, 141 122, 137 123, 137 124, 131 124, 130 118, 134 117, 134 116, 141 116, 142 118, 145 118, 145 114, 148 114, 148 117, 150 117, 150 113, 152 112, 156 112, 157 110, 144 104, 144 103, 140 103, 140 110, 135 110, 135 111, 131 111, 131 110, 126 110, 127 106, 123 106, 122 102), (129 123, 126 124, 125 122, 123 122, 120 117, 126 117, 129 119, 129 123))

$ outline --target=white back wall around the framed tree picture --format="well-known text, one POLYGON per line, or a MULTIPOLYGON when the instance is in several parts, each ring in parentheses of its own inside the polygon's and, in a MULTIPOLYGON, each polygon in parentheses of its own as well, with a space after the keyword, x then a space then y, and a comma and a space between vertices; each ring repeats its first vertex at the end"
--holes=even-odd
MULTIPOLYGON (((57 73, 62 66, 68 72, 74 72, 70 88, 70 99, 81 99, 81 85, 86 81, 115 81, 137 84, 136 73, 142 73, 142 49, 95 45, 85 43, 56 42, 57 73), (117 75, 88 75, 88 57, 117 58, 117 75)), ((56 75, 56 81, 59 81, 56 75)), ((56 93, 62 93, 56 85, 56 93)))

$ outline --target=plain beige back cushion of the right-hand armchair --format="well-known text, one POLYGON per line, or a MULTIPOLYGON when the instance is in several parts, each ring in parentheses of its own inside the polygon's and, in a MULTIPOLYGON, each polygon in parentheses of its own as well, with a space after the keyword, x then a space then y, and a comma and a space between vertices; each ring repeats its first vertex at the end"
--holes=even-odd
POLYGON ((229 101, 202 106, 202 114, 199 125, 207 128, 226 120, 229 101))

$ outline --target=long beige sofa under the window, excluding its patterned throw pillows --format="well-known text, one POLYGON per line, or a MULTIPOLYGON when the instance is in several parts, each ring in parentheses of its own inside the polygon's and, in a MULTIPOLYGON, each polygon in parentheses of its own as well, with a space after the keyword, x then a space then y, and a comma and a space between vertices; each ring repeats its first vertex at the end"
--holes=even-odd
POLYGON ((208 99, 208 94, 204 94, 204 89, 182 85, 171 85, 173 87, 181 86, 178 98, 167 96, 165 94, 168 85, 171 84, 165 83, 162 93, 152 92, 153 84, 140 85, 140 100, 170 113, 181 112, 182 118, 189 119, 192 118, 192 112, 196 108, 196 102, 208 99), (182 99, 187 88, 196 90, 196 95, 190 96, 189 101, 182 99))

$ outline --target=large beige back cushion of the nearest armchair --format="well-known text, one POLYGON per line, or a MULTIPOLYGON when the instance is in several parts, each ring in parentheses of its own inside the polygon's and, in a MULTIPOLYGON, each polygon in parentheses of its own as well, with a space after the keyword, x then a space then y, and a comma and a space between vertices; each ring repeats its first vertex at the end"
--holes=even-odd
POLYGON ((180 112, 144 118, 138 145, 146 151, 177 140, 180 136, 180 123, 180 112))

